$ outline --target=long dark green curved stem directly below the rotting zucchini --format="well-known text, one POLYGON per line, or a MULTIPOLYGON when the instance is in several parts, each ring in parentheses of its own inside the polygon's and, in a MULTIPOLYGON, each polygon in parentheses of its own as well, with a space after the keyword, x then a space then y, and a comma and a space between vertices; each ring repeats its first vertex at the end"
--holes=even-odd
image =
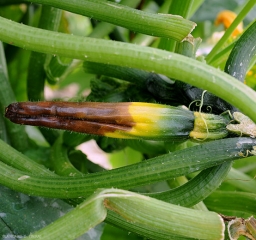
MULTIPOLYGON (((40 177, 37 175, 38 170, 28 174, 28 172, 22 172, 0 162, 0 183, 30 195, 63 199, 77 198, 88 196, 97 188, 129 189, 200 171, 225 161, 239 159, 241 158, 240 152, 250 150, 254 145, 255 141, 250 138, 222 139, 123 168, 72 178, 53 178, 49 175, 40 177)), ((13 151, 8 155, 1 154, 0 160, 8 163, 13 161, 15 155, 17 156, 17 153, 13 151)), ((12 162, 12 165, 14 164, 16 163, 12 162)), ((32 163, 28 162, 28 164, 33 167, 32 163)))

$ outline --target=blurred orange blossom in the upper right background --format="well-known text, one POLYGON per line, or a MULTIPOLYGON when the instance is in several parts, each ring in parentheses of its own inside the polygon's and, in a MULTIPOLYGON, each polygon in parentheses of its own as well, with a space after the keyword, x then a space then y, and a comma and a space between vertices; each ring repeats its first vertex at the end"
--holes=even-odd
MULTIPOLYGON (((214 24, 216 26, 223 24, 225 29, 229 28, 229 26, 232 24, 232 22, 235 20, 237 15, 229 10, 221 11, 216 19, 214 24)), ((236 37, 237 35, 241 34, 243 32, 243 23, 239 23, 239 25, 236 27, 236 29, 232 33, 232 37, 236 37)))

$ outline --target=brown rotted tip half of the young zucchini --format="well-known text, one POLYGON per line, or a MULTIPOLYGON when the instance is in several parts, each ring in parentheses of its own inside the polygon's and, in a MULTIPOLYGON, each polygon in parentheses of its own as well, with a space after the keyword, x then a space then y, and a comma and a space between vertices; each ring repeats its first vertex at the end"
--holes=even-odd
POLYGON ((116 108, 112 103, 19 102, 10 104, 5 116, 18 124, 105 135, 132 128, 127 105, 122 103, 116 108))

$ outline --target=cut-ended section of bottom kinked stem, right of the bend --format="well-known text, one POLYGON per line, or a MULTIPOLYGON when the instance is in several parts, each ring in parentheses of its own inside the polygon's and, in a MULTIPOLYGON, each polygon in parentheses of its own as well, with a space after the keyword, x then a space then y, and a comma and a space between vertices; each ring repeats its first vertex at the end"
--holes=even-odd
POLYGON ((124 219, 138 222, 146 227, 154 223, 153 228, 169 233, 171 236, 222 239, 221 235, 224 232, 224 224, 221 223, 222 220, 216 213, 183 208, 137 194, 131 193, 130 196, 124 196, 124 198, 109 197, 105 200, 105 205, 110 210, 119 213, 124 219), (211 226, 213 235, 204 231, 209 226, 211 226))

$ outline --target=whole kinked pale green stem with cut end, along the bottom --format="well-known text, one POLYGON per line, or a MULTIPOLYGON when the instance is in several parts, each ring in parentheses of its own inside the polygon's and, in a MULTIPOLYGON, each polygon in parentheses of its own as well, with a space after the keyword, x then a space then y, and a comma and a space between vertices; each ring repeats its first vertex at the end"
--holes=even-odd
POLYGON ((117 212, 123 220, 168 234, 169 239, 222 239, 225 229, 223 220, 214 212, 188 209, 124 190, 100 189, 74 210, 29 238, 74 239, 103 221, 106 209, 117 212))

